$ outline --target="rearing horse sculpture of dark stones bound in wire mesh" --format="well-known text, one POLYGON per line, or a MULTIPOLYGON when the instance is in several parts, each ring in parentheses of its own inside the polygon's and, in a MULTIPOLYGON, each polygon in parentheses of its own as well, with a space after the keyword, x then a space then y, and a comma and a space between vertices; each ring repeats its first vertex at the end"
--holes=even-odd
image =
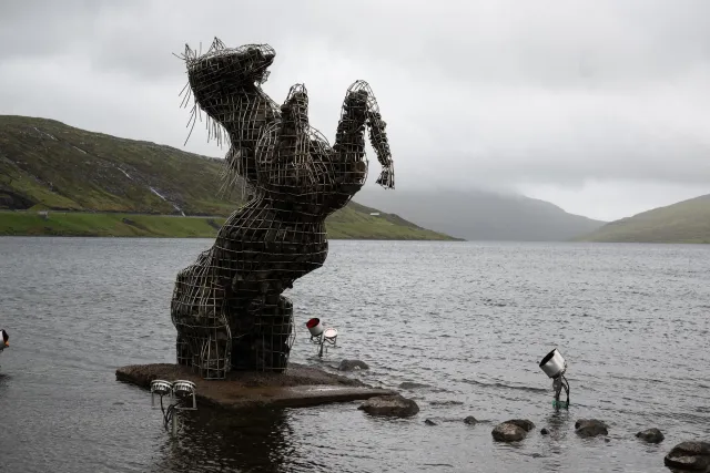
POLYGON ((266 44, 226 48, 216 38, 206 53, 185 45, 181 55, 189 78, 183 106, 194 100, 190 132, 205 112, 209 138, 230 144, 226 187, 251 194, 175 281, 178 362, 205 379, 286 369, 295 332, 293 304, 282 292, 325 261, 324 220, 367 177, 366 127, 382 165, 376 182, 394 188, 386 123, 369 85, 356 81, 347 90, 331 146, 308 123, 304 85, 293 85, 281 106, 262 90, 274 56, 266 44))

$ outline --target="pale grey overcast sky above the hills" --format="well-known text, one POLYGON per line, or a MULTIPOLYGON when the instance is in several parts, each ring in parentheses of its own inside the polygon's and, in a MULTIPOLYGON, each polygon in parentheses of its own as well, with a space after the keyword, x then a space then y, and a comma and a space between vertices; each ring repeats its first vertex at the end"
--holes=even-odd
MULTIPOLYGON (((398 188, 616 219, 710 193, 709 19, 707 0, 2 0, 0 113, 183 147, 172 53, 268 43, 264 89, 305 83, 331 142, 347 86, 369 82, 398 188)), ((222 157, 206 137, 184 148, 222 157)))

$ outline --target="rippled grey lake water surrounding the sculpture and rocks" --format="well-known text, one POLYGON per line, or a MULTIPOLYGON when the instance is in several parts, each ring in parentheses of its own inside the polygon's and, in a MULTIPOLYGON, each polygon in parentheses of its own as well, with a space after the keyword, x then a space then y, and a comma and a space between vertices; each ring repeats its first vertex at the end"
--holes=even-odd
POLYGON ((216 414, 178 439, 118 367, 173 362, 176 273, 211 240, 0 238, 0 470, 8 472, 667 472, 663 455, 710 436, 710 247, 332 241, 288 292, 292 360, 416 399, 418 415, 356 403, 216 414), (338 328, 320 361, 305 321, 338 328), (569 412, 537 367, 569 362, 569 412), (466 425, 474 415, 487 421, 466 425), (610 424, 581 440, 579 418, 610 424), (537 425, 517 444, 490 430, 537 425), (425 419, 437 425, 426 425, 425 419), (540 435, 547 426, 551 435, 540 435), (635 438, 658 426, 660 445, 635 438))

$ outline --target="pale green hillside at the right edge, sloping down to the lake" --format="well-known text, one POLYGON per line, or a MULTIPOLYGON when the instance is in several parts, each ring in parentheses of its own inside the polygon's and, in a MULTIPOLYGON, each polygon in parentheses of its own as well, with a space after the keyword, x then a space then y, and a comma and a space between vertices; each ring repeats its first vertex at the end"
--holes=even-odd
POLYGON ((710 244, 710 195, 622 218, 577 239, 609 243, 710 244))

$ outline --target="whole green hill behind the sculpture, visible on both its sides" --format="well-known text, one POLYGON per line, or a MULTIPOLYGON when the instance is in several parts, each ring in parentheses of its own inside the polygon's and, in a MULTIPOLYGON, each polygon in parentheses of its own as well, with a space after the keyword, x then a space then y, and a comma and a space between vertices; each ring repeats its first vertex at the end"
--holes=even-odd
MULTIPOLYGON (((0 115, 0 235, 213 236, 245 197, 241 188, 220 192, 221 173, 221 160, 0 115)), ((351 203, 328 217, 328 235, 452 239, 371 213, 351 203)))

